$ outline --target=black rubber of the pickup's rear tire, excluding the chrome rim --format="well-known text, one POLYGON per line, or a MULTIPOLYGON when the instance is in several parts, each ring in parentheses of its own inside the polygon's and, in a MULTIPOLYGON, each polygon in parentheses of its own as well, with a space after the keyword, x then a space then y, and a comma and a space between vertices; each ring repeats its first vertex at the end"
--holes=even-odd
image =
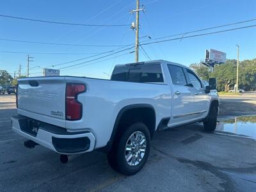
POLYGON ((114 170, 116 170, 116 172, 122 173, 124 175, 134 175, 135 173, 139 172, 141 168, 143 168, 147 161, 149 152, 150 133, 145 124, 137 122, 130 125, 124 131, 118 134, 116 140, 113 142, 111 151, 108 153, 108 163, 114 170), (145 154, 138 164, 130 165, 125 158, 125 147, 130 136, 132 134, 136 134, 136 132, 142 132, 143 136, 145 136, 145 154))

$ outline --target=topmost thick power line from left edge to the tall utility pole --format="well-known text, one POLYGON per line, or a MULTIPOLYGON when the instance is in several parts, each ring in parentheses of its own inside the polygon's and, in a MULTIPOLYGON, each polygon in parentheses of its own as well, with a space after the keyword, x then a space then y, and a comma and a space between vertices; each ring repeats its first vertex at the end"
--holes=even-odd
POLYGON ((40 19, 31 19, 31 18, 25 18, 25 17, 15 17, 11 15, 0 15, 0 17, 6 17, 10 19, 20 19, 20 20, 30 20, 30 21, 36 21, 36 22, 45 22, 45 23, 51 23, 51 24, 64 24, 64 25, 70 25, 70 26, 87 26, 87 27, 123 27, 123 26, 130 26, 130 24, 82 24, 82 23, 73 23, 73 22, 58 22, 58 21, 52 21, 52 20, 40 20, 40 19))

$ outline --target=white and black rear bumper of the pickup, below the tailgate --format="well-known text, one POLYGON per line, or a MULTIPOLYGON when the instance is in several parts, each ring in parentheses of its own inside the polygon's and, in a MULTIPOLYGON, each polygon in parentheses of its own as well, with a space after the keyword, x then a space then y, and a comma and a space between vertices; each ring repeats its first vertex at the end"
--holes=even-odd
POLYGON ((60 154, 81 154, 95 147, 92 132, 67 132, 61 127, 38 122, 22 115, 12 117, 12 129, 60 154))

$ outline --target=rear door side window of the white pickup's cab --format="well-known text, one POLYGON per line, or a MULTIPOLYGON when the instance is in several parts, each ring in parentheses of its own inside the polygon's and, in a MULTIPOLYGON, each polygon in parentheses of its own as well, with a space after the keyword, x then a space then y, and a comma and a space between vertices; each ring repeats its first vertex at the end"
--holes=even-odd
POLYGON ((182 67, 176 65, 168 65, 170 76, 172 77, 172 83, 175 85, 186 86, 188 83, 182 67))

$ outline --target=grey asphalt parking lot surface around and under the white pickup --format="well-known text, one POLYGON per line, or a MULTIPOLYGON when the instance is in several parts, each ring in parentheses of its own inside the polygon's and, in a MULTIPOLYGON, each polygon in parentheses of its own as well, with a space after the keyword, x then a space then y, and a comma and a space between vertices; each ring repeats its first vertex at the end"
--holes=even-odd
MULTIPOLYGON (((256 98, 221 98, 219 120, 256 115, 256 98)), ((1 191, 256 191, 256 142, 233 133, 212 134, 196 123, 156 132, 148 162, 126 177, 110 168, 106 154, 72 156, 36 146, 11 130, 15 96, 0 96, 1 191)), ((256 125, 252 124, 256 130, 256 125)))

